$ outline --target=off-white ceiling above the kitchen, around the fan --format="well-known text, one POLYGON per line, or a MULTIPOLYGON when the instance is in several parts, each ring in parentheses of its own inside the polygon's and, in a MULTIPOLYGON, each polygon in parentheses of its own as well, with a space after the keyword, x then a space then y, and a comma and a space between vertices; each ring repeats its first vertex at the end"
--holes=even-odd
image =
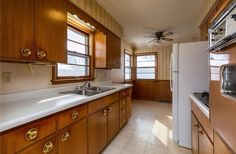
MULTIPOLYGON (((173 42, 199 39, 203 0, 97 0, 124 28, 124 39, 133 46, 147 46, 157 31, 171 31, 173 42)), ((164 43, 164 42, 162 42, 164 43)))

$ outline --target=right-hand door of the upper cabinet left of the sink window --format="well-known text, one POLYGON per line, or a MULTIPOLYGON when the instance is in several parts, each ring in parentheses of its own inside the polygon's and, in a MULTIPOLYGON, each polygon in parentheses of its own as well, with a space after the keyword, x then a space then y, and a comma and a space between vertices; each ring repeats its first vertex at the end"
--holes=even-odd
POLYGON ((66 62, 67 13, 64 0, 35 0, 37 60, 66 62), (44 54, 45 53, 45 54, 44 54))

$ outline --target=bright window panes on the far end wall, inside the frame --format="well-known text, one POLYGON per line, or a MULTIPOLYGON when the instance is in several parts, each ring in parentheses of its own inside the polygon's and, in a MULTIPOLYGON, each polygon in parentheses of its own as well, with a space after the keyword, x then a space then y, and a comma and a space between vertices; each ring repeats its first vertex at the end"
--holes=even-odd
POLYGON ((156 78, 156 55, 136 56, 136 78, 137 79, 156 78))

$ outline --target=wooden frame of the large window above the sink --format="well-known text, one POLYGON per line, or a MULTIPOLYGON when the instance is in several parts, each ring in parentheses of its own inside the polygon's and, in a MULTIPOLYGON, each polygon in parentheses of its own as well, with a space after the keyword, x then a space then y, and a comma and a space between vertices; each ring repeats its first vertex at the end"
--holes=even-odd
MULTIPOLYGON (((69 51, 67 48, 67 55, 69 54, 74 54, 74 55, 79 55, 80 57, 88 57, 89 59, 89 65, 76 65, 76 64, 68 64, 68 65, 76 65, 76 66, 88 66, 89 67, 89 75, 87 76, 58 76, 58 63, 56 63, 55 66, 53 66, 52 68, 52 84, 66 84, 66 83, 75 83, 75 82, 83 82, 83 81, 92 81, 94 80, 94 67, 93 67, 93 61, 94 61, 94 49, 92 49, 91 47, 93 47, 93 44, 91 44, 91 42, 93 43, 94 41, 93 39, 93 31, 89 31, 87 29, 85 29, 84 27, 79 27, 74 23, 68 22, 67 23, 67 27, 70 27, 76 31, 79 31, 80 33, 86 35, 88 37, 88 44, 82 44, 85 45, 87 47, 87 54, 82 54, 82 53, 75 53, 73 51, 69 51)), ((68 39, 67 39, 68 40, 68 39)), ((67 42, 66 40, 66 42, 67 42)), ((67 60, 67 59, 66 59, 67 60)))

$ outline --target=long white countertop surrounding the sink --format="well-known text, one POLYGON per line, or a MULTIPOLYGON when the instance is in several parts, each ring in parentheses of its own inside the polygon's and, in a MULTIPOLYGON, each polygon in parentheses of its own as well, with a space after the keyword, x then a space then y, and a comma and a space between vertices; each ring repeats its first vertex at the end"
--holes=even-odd
POLYGON ((0 132, 132 87, 132 84, 104 86, 115 89, 93 96, 59 94, 62 91, 73 90, 74 86, 1 95, 0 132))

